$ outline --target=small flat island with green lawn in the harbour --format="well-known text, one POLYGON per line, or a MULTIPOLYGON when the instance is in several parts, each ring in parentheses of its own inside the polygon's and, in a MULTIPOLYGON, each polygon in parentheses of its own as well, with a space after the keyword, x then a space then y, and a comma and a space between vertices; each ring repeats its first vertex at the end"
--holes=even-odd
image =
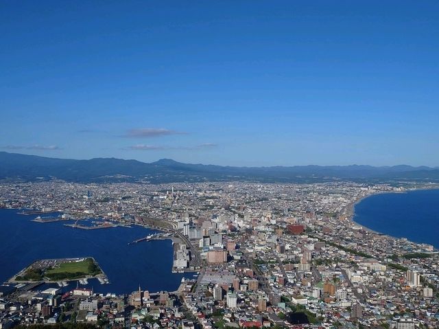
POLYGON ((10 282, 57 282, 60 280, 106 278, 94 258, 37 260, 12 277, 10 282))

